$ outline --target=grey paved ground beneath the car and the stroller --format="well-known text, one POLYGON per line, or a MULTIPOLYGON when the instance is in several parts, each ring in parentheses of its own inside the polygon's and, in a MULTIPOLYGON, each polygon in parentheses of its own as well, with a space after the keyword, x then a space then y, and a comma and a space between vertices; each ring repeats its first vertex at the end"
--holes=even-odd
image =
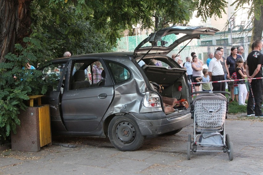
POLYGON ((194 128, 190 125, 176 135, 149 136, 144 145, 134 152, 117 150, 108 138, 53 137, 53 141, 77 147, 52 145, 42 147, 39 152, 1 151, 0 175, 263 175, 263 122, 258 119, 237 120, 237 116, 242 115, 229 115, 226 120, 226 133, 234 144, 233 161, 229 161, 227 153, 215 152, 193 153, 188 161, 187 136, 193 133, 194 128))

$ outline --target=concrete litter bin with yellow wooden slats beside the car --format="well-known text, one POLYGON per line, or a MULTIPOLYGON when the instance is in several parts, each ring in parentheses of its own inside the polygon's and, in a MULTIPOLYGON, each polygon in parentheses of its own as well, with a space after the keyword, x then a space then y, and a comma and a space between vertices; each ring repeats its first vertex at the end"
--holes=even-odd
POLYGON ((17 133, 11 133, 12 150, 36 152, 51 143, 49 105, 28 107, 26 111, 21 111, 18 118, 21 123, 17 126, 17 133), (44 122, 41 121, 43 118, 44 122))

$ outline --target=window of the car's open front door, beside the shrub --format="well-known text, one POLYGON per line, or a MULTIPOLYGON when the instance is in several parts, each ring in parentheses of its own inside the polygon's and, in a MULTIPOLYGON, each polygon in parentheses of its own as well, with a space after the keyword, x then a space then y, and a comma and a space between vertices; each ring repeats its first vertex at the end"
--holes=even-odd
MULTIPOLYGON (((57 91, 61 74, 65 69, 65 63, 52 64, 43 69, 43 79, 50 83, 49 91, 57 91)), ((65 77, 64 77, 65 80, 65 77)), ((64 83, 64 82, 62 82, 64 83)), ((64 84, 63 84, 64 85, 64 84)), ((63 87, 62 92, 63 93, 63 87)))

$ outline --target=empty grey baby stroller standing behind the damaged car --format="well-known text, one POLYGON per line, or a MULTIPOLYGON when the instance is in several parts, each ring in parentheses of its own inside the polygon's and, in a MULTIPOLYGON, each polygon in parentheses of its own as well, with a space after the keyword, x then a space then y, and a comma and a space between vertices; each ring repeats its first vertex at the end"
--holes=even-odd
POLYGON ((225 134, 225 119, 228 113, 230 93, 225 91, 193 92, 198 95, 191 103, 191 114, 194 119, 194 140, 191 134, 187 141, 187 159, 197 151, 228 153, 233 160, 233 143, 228 134, 225 134), (228 98, 222 94, 228 94, 228 98), (197 140, 199 136, 199 140, 197 140), (198 150, 197 147, 222 147, 222 150, 198 150))

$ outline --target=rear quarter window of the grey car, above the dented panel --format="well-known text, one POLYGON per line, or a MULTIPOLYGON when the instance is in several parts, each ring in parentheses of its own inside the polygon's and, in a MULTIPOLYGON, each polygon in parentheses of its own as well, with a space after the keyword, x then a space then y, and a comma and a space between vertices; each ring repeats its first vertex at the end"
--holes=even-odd
POLYGON ((125 82, 131 78, 131 71, 123 64, 108 62, 108 66, 113 74, 114 83, 125 82))

